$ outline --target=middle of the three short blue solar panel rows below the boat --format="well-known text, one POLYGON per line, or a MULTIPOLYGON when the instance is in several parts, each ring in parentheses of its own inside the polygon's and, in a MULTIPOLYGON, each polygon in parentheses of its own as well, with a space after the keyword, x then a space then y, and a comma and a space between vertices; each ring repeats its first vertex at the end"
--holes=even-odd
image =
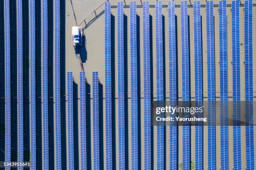
POLYGON ((80 147, 82 170, 87 169, 86 119, 86 79, 85 72, 80 72, 80 147))

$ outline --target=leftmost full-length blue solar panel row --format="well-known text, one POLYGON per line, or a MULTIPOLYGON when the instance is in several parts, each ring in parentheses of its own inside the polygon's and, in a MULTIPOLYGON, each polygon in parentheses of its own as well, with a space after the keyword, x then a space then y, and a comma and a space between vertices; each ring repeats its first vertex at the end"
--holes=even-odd
MULTIPOLYGON (((10 9, 5 0, 5 162, 10 162, 10 9)), ((10 170, 10 168, 5 168, 10 170)))

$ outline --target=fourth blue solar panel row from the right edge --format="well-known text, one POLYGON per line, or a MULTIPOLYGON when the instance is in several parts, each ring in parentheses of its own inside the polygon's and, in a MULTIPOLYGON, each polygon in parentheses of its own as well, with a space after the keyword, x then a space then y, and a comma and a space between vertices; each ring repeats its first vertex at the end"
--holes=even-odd
POLYGON ((215 169, 215 60, 213 1, 206 2, 208 169, 215 169))

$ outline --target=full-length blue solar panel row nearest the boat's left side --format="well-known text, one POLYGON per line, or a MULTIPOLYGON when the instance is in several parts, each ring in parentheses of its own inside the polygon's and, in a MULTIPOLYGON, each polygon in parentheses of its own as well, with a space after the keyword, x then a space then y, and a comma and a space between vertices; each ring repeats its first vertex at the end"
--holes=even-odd
POLYGON ((54 100, 56 170, 61 170, 61 106, 60 106, 60 4, 54 1, 54 100))

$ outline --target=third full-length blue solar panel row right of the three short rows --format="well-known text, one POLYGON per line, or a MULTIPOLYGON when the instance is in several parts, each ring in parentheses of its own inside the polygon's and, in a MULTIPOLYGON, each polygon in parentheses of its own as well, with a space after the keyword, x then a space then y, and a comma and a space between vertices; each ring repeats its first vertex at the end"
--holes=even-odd
POLYGON ((131 167, 138 169, 138 79, 136 2, 130 3, 131 29, 131 167))

